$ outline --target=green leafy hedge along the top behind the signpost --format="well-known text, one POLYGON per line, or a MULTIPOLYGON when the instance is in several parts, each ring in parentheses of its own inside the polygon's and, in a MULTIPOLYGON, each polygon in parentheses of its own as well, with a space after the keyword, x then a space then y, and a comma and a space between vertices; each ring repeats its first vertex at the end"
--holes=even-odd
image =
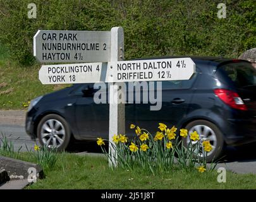
POLYGON ((256 1, 0 0, 0 42, 20 64, 33 64, 33 36, 44 30, 125 30, 126 59, 165 55, 238 57, 256 47, 256 1), (227 18, 217 18, 225 3, 227 18))

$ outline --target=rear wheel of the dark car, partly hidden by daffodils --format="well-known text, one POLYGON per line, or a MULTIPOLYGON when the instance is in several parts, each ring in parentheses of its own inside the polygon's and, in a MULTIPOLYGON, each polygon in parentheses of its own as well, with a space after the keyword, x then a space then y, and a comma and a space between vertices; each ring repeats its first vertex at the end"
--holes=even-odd
MULTIPOLYGON (((204 141, 210 141, 212 145, 212 150, 207 153, 206 161, 212 162, 212 160, 217 160, 221 157, 224 149, 224 140, 221 131, 215 124, 205 120, 197 120, 190 122, 186 127, 188 129, 188 134, 190 135, 193 131, 197 131, 200 136, 198 149, 195 150, 195 154, 199 158, 203 159, 206 156, 204 151, 204 146, 202 143, 204 141)), ((188 144, 191 142, 192 145, 196 144, 198 141, 190 140, 190 136, 183 139, 183 145, 188 147, 188 144)))

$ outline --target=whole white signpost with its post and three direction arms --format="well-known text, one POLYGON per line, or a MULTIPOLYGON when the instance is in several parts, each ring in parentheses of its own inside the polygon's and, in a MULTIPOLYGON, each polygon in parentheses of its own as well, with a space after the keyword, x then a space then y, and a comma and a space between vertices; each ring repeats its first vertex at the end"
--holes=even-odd
MULTIPOLYGON (((189 80, 195 63, 189 57, 123 61, 123 28, 110 32, 39 30, 34 36, 34 56, 40 62, 76 62, 43 65, 42 84, 109 82, 109 142, 125 134, 125 104, 119 102, 119 82, 189 80), (79 63, 93 62, 93 63, 79 63), (107 62, 107 63, 106 63, 107 62)), ((109 144, 109 165, 116 166, 116 151, 109 144)))

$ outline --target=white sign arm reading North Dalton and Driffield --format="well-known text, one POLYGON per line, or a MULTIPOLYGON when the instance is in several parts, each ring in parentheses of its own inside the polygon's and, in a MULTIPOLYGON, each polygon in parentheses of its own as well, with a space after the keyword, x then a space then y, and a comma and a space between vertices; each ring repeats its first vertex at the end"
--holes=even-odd
POLYGON ((107 64, 106 82, 189 80, 194 73, 195 63, 190 57, 111 61, 107 64))

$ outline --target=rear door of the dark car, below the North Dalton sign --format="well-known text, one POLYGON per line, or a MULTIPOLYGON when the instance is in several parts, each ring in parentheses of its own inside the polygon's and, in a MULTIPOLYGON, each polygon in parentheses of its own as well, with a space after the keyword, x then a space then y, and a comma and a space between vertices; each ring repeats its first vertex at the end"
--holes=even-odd
POLYGON ((162 88, 162 96, 157 98, 157 102, 162 104, 161 109, 150 110, 150 100, 148 104, 136 104, 135 119, 138 126, 152 133, 158 130, 159 122, 166 124, 168 128, 173 125, 180 127, 192 98, 194 80, 195 75, 186 81, 162 81, 162 87, 158 88, 154 81, 155 89, 149 90, 149 93, 157 95, 156 90, 161 91, 162 88))

